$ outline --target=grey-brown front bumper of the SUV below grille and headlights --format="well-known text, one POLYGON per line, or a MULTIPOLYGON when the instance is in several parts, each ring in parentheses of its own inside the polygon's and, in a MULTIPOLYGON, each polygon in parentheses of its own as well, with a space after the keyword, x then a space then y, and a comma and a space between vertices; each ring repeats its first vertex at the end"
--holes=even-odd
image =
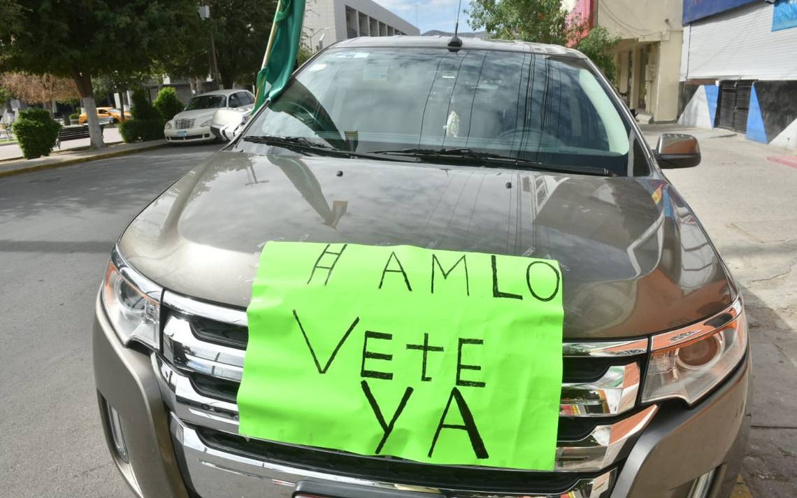
MULTIPOLYGON (((393 492, 403 489, 406 492, 397 495, 407 498, 417 496, 417 492, 437 491, 402 486, 402 483, 376 483, 364 475, 343 476, 334 471, 294 468, 280 461, 220 449, 169 412, 161 397, 155 362, 143 350, 122 346, 99 300, 93 351, 108 447, 137 496, 289 498, 296 484, 307 480, 364 490, 375 486, 393 492), (126 455, 120 456, 116 449, 107 406, 119 414, 126 455)), ((699 405, 687 410, 675 402, 663 404, 619 468, 585 475, 579 480, 578 489, 556 492, 553 496, 601 496, 597 492, 603 489, 606 490, 603 496, 612 498, 690 498, 693 483, 712 471, 713 488, 708 496, 724 496, 732 488, 747 446, 749 373, 748 355, 732 377, 699 405), (587 494, 590 488, 592 495, 587 494), (579 490, 581 494, 577 494, 579 490)), ((444 494, 473 498, 498 496, 494 492, 444 494)), ((540 496, 540 493, 528 489, 501 496, 540 496)))

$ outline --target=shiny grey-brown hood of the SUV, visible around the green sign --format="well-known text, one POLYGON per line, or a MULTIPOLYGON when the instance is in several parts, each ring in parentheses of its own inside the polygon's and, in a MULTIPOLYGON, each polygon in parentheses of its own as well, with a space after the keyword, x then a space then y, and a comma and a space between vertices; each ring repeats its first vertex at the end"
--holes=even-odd
POLYGON ((143 210, 120 250, 165 288, 243 308, 276 240, 556 259, 568 339, 664 331, 736 297, 689 206, 655 177, 222 151, 143 210))

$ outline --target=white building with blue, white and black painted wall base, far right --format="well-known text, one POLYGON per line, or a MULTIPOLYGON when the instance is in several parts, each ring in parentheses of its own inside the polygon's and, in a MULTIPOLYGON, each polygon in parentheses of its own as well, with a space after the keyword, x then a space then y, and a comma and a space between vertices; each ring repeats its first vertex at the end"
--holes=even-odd
POLYGON ((797 149, 797 0, 684 0, 679 123, 797 149))

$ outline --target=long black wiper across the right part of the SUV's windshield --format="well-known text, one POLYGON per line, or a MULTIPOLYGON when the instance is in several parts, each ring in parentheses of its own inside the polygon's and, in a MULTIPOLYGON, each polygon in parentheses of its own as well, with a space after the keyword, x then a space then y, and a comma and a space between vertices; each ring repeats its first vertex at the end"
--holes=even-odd
POLYGON ((552 164, 539 163, 530 159, 512 157, 510 155, 490 154, 489 152, 474 151, 469 147, 452 149, 402 149, 398 151, 376 151, 373 154, 413 156, 418 159, 454 161, 457 163, 469 163, 481 167, 518 167, 528 168, 538 171, 550 171, 552 173, 577 173, 591 174, 595 176, 617 176, 614 172, 606 168, 588 166, 557 166, 552 164))

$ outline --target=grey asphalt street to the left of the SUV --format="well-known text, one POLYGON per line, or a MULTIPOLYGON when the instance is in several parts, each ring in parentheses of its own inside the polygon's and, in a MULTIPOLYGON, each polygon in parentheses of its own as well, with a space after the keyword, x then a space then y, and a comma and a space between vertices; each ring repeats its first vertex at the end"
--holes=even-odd
POLYGON ((216 149, 0 178, 0 496, 132 496, 101 435, 94 299, 125 225, 216 149))

